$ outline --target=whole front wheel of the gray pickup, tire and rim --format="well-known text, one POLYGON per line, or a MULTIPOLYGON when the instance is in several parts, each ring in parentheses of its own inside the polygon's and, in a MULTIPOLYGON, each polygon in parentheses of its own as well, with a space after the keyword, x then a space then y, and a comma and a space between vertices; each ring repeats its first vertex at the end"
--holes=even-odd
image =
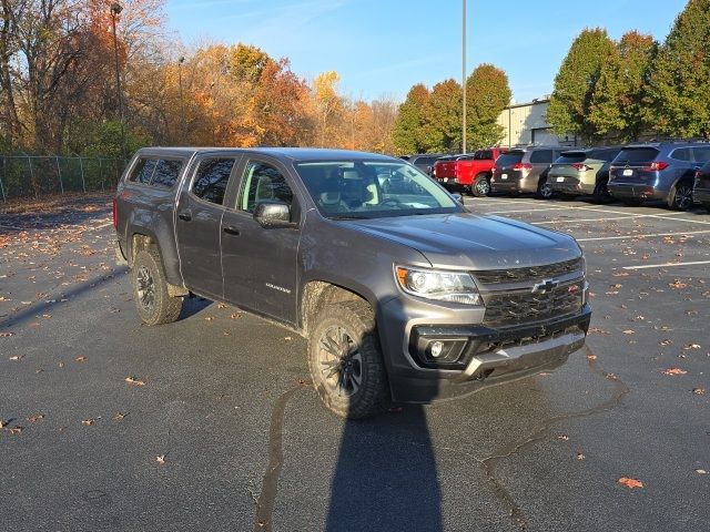
POLYGON ((318 397, 336 415, 363 419, 384 410, 387 376, 367 303, 337 303, 322 311, 308 335, 308 368, 318 397))

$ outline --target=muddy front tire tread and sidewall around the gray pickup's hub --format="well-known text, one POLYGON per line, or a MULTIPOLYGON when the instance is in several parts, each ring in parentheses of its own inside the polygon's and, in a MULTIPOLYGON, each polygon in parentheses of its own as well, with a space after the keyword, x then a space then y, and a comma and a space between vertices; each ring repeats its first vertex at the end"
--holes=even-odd
MULTIPOLYGON (((384 411, 389 393, 387 374, 375 327, 375 316, 366 301, 344 301, 326 306, 308 332, 308 368, 318 397, 331 411, 347 419, 364 419, 384 411), (328 383, 324 350, 329 352, 326 335, 344 330, 353 340, 351 351, 359 354, 359 386, 351 396, 339 393, 328 383)), ((342 357, 344 360, 346 357, 342 357)), ((341 379, 339 375, 336 379, 341 379)), ((338 380, 339 382, 339 380, 338 380)), ((339 390, 347 391, 344 388, 339 390)))

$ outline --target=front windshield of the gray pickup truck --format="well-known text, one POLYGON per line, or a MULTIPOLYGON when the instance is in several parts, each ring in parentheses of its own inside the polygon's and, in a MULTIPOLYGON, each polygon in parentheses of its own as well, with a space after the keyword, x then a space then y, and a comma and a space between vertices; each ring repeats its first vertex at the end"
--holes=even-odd
POLYGON ((329 218, 460 211, 446 191, 407 163, 318 161, 296 163, 295 168, 321 214, 329 218))

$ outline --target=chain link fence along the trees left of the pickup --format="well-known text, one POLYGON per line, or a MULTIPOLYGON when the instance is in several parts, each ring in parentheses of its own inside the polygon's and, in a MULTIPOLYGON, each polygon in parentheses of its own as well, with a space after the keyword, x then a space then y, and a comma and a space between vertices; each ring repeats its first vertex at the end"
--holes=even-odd
POLYGON ((124 166, 110 157, 0 155, 0 198, 110 190, 124 166))

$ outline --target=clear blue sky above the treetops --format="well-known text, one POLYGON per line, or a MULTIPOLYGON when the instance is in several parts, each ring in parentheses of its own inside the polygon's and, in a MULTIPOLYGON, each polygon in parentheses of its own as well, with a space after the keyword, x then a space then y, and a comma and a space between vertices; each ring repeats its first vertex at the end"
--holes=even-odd
MULTIPOLYGON (((686 0, 468 0, 467 71, 494 63, 514 99, 551 92, 572 39, 604 27, 618 39, 637 29, 662 41, 686 0)), ((336 70, 341 93, 404 100, 462 76, 462 0, 168 0, 170 27, 187 44, 255 44, 288 58, 298 75, 336 70)))

